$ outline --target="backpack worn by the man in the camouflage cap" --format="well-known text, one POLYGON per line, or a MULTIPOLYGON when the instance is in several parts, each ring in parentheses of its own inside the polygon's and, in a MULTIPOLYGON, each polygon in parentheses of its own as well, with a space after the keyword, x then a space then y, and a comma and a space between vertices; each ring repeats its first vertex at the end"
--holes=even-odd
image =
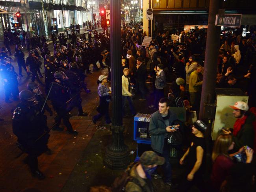
POLYGON ((138 179, 136 179, 135 177, 132 177, 130 175, 130 172, 132 170, 132 168, 138 164, 138 162, 132 162, 131 164, 128 165, 127 169, 124 171, 124 173, 117 177, 115 179, 115 181, 112 184, 112 192, 122 192, 125 191, 125 186, 128 182, 133 182, 136 185, 140 186, 141 188, 143 188, 143 186, 141 186, 140 182, 138 181, 138 179))

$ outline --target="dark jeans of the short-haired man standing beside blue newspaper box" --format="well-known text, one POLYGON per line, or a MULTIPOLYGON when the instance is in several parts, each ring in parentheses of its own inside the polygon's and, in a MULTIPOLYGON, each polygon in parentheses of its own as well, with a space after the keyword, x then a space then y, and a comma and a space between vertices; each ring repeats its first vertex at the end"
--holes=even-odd
MULTIPOLYGON (((156 152, 156 151, 155 151, 156 152)), ((167 144, 167 138, 164 140, 163 144, 163 153, 156 152, 160 157, 165 158, 165 163, 162 166, 164 174, 164 182, 170 182, 172 180, 172 167, 169 160, 170 156, 170 146, 167 144)))

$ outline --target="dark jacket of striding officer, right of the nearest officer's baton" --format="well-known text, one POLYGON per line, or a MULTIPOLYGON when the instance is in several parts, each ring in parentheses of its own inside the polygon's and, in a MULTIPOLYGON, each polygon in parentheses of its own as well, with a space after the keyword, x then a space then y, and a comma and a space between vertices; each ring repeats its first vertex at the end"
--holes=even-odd
POLYGON ((51 86, 50 99, 54 109, 65 109, 65 103, 70 99, 68 87, 63 82, 59 83, 57 81, 52 82, 51 86))

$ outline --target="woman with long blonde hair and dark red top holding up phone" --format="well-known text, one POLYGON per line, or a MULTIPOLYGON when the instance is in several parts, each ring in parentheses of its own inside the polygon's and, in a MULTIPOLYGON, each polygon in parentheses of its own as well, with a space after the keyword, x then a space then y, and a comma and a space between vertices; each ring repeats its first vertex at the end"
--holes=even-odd
POLYGON ((220 135, 214 143, 212 160, 213 168, 211 173, 211 184, 213 191, 219 191, 225 185, 225 179, 230 175, 230 170, 234 166, 233 156, 245 151, 247 160, 246 163, 252 161, 253 150, 251 148, 240 148, 239 151, 233 154, 228 154, 228 151, 234 149, 234 142, 231 135, 220 135))

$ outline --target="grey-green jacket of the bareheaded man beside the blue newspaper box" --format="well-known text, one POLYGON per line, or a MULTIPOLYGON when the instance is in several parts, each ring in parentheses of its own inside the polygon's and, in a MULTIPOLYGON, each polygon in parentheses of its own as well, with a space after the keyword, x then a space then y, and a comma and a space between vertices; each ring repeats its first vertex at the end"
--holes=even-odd
MULTIPOLYGON (((172 125, 173 121, 177 119, 176 114, 169 110, 169 125, 172 125)), ((151 134, 151 147, 154 151, 158 153, 163 153, 164 137, 166 131, 166 125, 163 117, 156 111, 152 114, 149 124, 149 133, 151 134)))

